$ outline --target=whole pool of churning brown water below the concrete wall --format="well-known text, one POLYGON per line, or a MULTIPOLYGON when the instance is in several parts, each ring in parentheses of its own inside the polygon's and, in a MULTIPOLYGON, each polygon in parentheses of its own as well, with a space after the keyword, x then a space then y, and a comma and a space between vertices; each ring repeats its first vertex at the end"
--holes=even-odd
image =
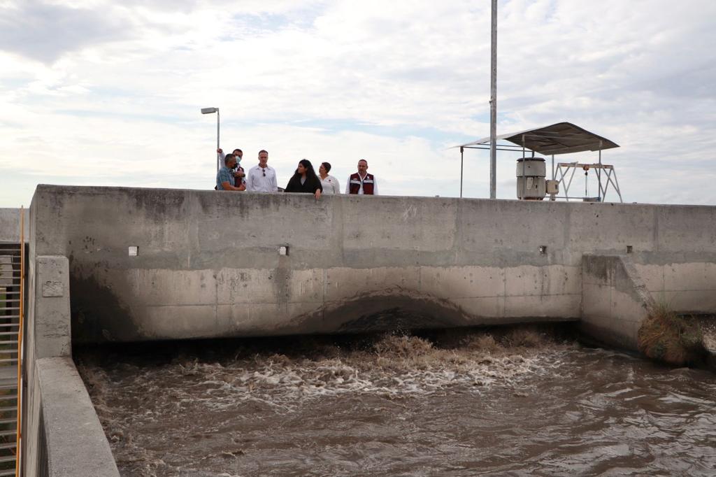
POLYGON ((77 362, 125 476, 716 475, 715 375, 536 332, 77 362))

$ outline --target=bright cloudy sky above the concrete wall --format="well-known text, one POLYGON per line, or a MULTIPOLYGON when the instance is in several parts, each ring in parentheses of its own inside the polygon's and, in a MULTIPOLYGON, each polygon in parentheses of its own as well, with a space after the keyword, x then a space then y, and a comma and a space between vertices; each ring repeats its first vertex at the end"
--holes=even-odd
MULTIPOLYGON (((489 19, 488 0, 0 0, 0 207, 38 183, 213 188, 211 106, 222 147, 269 150, 281 186, 301 158, 342 181, 367 158, 384 194, 458 196, 449 147, 489 134, 489 19)), ((621 145, 624 201, 716 204, 714 19, 713 0, 500 0, 498 134, 575 122, 621 145)), ((488 162, 465 154, 465 196, 489 196, 488 162)))

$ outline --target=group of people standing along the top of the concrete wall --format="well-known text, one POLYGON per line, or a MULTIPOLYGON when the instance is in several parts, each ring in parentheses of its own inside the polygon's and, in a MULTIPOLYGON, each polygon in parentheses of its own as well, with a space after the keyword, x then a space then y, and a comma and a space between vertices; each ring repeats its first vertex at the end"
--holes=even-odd
MULTIPOLYGON (((216 190, 218 191, 251 191, 251 192, 278 192, 276 183, 276 170, 269 162, 269 153, 266 150, 258 151, 258 165, 248 170, 241 167, 243 151, 234 149, 231 154, 224 154, 217 149, 223 166, 216 173, 216 190)), ((329 175, 331 165, 321 163, 318 174, 308 159, 299 160, 296 172, 286 185, 284 192, 311 193, 317 198, 321 194, 339 194, 340 185, 337 178, 329 175)), ((368 161, 358 161, 358 172, 348 178, 345 193, 359 195, 378 195, 378 186, 374 175, 368 173, 368 161)))

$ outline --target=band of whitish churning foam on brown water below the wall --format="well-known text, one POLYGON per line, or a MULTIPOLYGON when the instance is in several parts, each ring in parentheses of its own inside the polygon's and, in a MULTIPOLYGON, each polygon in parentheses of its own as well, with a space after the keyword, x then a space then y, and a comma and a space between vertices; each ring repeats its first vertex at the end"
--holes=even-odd
MULTIPOLYGON (((169 394, 174 399, 166 405, 177 408, 201 401, 208 408, 221 410, 253 401, 291 411, 298 402, 326 396, 378 393, 399 398, 465 385, 472 392, 483 392, 488 387, 516 385, 529 375, 560 365, 555 347, 442 350, 417 337, 388 337, 374 349, 379 352, 341 352, 337 357, 313 359, 256 355, 251 360, 223 364, 173 363, 125 377, 122 387, 140 389, 144 395, 169 394), (186 377, 192 382, 186 382, 186 377), (159 390, 156 382, 165 386, 175 382, 175 386, 159 390)), ((92 372, 96 372, 95 380, 109 385, 106 372, 92 372)))

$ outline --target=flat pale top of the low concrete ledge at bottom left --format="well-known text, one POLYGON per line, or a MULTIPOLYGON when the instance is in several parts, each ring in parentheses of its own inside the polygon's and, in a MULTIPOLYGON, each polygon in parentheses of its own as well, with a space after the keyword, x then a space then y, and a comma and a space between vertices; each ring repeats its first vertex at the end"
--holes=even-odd
POLYGON ((49 476, 119 476, 74 362, 67 357, 44 358, 37 360, 36 369, 49 476))

